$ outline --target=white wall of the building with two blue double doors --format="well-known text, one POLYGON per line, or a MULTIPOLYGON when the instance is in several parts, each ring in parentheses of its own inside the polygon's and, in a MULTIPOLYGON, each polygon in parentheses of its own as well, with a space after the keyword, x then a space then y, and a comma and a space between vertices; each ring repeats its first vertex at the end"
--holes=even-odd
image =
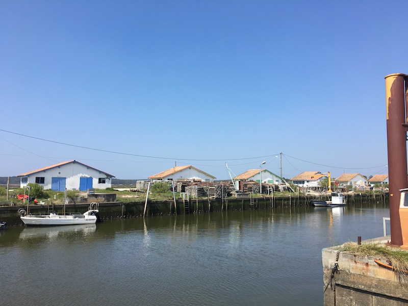
MULTIPOLYGON (((47 169, 30 174, 27 177, 28 183, 32 184, 35 184, 36 177, 44 177, 44 184, 39 185, 43 186, 45 190, 51 189, 52 177, 65 177, 67 190, 79 190, 81 177, 92 177, 92 188, 95 189, 105 189, 112 186, 111 177, 79 163, 70 163, 56 168, 47 169), (99 177, 106 178, 106 183, 99 184, 99 177)), ((20 184, 20 187, 23 188, 25 185, 27 184, 20 184)))

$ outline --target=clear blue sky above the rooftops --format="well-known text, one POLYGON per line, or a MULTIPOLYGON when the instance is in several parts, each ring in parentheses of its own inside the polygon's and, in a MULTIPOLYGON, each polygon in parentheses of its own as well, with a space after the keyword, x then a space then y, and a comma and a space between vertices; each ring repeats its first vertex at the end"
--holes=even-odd
POLYGON ((0 176, 75 159, 118 179, 175 162, 228 179, 225 162, 279 174, 279 152, 287 178, 387 173, 384 77, 408 73, 407 11, 4 0, 0 176))

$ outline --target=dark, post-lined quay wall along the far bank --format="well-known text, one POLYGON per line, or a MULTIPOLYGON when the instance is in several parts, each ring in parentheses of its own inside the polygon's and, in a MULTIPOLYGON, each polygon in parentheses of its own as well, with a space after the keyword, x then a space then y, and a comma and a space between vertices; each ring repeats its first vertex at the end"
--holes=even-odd
MULTIPOLYGON (((347 205, 358 203, 379 203, 388 205, 388 193, 353 193, 346 194, 347 205)), ((263 196, 245 198, 198 198, 155 201, 149 200, 147 205, 144 202, 101 202, 99 203, 99 214, 103 219, 132 218, 158 215, 191 214, 191 213, 212 213, 221 211, 239 211, 252 209, 270 209, 310 206, 310 200, 328 200, 326 195, 290 195, 290 196, 263 196), (144 208, 146 207, 146 210, 144 208)), ((89 203, 77 203, 66 205, 66 212, 84 212, 89 203)), ((0 207, 0 221, 6 221, 9 225, 22 225, 17 214, 22 206, 0 207)), ((55 213, 63 212, 63 205, 30 205, 30 213, 47 214, 50 210, 55 213)))

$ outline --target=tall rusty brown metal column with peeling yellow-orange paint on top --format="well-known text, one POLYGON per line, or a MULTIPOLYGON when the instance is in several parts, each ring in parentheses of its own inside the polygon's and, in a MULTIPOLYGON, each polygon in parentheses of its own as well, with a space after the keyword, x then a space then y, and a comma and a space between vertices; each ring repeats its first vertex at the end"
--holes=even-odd
POLYGON ((406 162, 405 74, 389 74, 386 80, 388 175, 390 186, 391 244, 402 245, 399 218, 400 189, 408 187, 406 162))

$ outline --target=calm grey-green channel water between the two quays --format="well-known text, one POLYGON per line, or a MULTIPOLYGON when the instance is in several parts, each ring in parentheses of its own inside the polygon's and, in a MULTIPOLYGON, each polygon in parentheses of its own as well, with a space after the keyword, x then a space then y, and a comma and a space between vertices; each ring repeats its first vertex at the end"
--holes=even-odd
MULTIPOLYGON (((384 205, 0 231, 4 305, 323 305, 321 249, 382 236, 384 205)), ((389 231, 389 229, 388 229, 389 231)))

